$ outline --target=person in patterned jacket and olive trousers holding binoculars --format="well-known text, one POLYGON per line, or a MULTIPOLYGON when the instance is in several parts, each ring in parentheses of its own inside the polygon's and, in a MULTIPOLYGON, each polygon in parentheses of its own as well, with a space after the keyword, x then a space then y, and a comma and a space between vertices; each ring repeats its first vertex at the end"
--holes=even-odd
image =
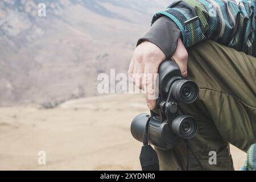
MULTIPOLYGON (((183 76, 199 85, 199 98, 181 110, 197 119, 199 130, 171 151, 156 148, 160 170, 233 170, 229 143, 247 151, 256 143, 255 0, 176 1, 152 18, 138 40, 129 75, 139 88, 154 86, 142 77, 173 59, 183 76), (143 73, 143 74, 142 74, 143 73), (216 154, 216 161, 211 156, 216 154), (199 165, 200 162, 200 165, 199 165)), ((146 93, 154 109, 152 93, 146 93)))

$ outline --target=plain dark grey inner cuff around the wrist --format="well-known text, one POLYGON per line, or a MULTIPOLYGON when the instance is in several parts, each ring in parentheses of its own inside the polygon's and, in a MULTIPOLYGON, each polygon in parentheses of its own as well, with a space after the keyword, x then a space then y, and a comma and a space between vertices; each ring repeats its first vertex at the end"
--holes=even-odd
POLYGON ((151 42, 158 46, 170 59, 177 47, 177 40, 180 37, 180 30, 177 25, 167 16, 157 19, 150 30, 137 42, 137 46, 144 41, 151 42))

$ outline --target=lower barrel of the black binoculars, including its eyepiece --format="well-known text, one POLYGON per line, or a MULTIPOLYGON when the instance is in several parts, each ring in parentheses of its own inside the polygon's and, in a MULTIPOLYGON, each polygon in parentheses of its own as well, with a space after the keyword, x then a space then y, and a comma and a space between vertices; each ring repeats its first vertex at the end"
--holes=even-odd
POLYGON ((145 130, 148 130, 148 141, 154 146, 169 150, 177 144, 177 137, 191 139, 197 133, 196 119, 189 115, 179 115, 174 118, 171 126, 168 122, 160 122, 155 118, 150 118, 148 114, 139 114, 131 123, 131 134, 139 142, 143 142, 145 130), (148 122, 148 126, 147 126, 148 122))

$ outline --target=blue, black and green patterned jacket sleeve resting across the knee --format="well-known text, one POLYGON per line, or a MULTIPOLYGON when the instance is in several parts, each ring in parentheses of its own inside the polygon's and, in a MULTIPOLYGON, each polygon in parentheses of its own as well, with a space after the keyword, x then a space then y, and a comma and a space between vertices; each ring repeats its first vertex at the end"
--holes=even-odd
POLYGON ((255 55, 255 0, 176 1, 161 16, 170 18, 181 32, 185 47, 210 39, 225 46, 255 55))

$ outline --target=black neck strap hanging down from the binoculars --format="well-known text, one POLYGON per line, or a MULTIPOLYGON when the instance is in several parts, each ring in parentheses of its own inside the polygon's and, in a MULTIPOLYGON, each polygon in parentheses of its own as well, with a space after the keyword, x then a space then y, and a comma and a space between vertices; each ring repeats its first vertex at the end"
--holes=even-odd
POLYGON ((143 146, 141 148, 141 154, 139 155, 139 161, 141 162, 142 171, 159 171, 159 160, 158 154, 148 144, 147 134, 148 134, 148 123, 150 118, 147 120, 146 129, 143 133, 143 146))

